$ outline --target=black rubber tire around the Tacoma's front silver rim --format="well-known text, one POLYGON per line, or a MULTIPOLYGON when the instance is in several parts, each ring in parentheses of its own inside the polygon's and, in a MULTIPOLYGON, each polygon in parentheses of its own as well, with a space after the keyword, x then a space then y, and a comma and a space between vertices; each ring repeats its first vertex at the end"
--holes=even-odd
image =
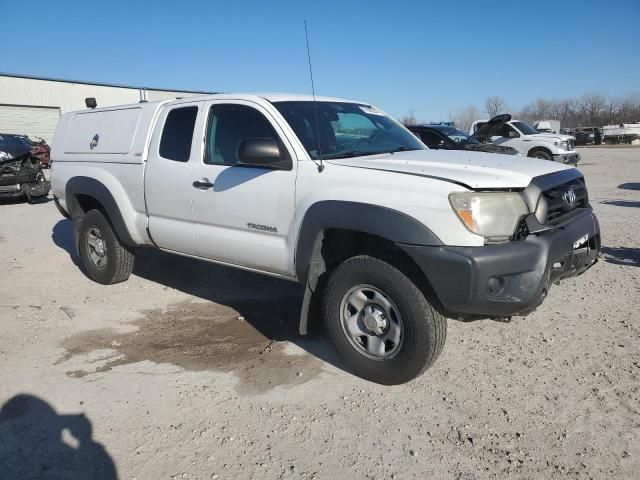
POLYGON ((422 291, 394 266, 366 255, 344 261, 331 273, 323 315, 331 341, 347 367, 359 377, 384 385, 405 383, 422 374, 440 355, 447 336, 446 318, 422 291), (369 358, 343 328, 343 301, 362 284, 383 292, 399 311, 402 340, 390 358, 369 358))

